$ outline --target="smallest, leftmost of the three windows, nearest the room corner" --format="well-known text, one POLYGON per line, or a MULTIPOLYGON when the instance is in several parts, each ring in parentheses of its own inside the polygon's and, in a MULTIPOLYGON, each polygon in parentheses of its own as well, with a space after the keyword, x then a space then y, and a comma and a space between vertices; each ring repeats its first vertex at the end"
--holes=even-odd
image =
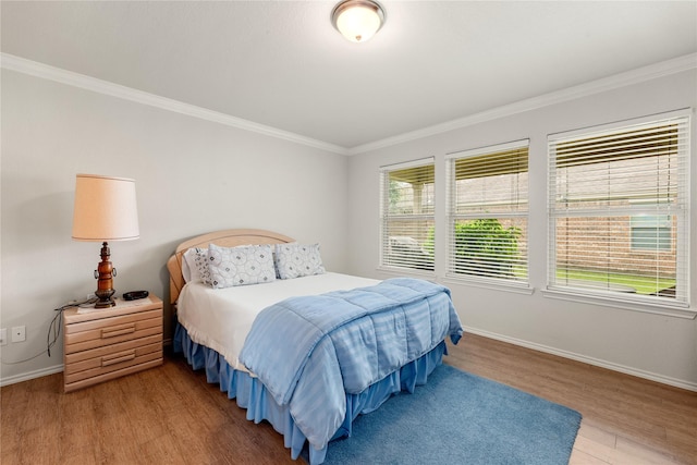
POLYGON ((380 169, 380 265, 433 270, 435 180, 432 158, 380 169))

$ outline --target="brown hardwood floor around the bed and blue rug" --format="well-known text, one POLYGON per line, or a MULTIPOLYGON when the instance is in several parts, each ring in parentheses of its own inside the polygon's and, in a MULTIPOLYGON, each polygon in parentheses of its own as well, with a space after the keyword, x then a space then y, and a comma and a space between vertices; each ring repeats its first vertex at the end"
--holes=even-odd
MULTIPOLYGON (((466 334, 447 363, 579 411, 571 464, 697 464, 697 393, 466 334)), ((62 375, 4 387, 12 464, 296 464, 180 357, 69 394, 62 375)), ((302 462, 299 462, 302 463, 302 462)))

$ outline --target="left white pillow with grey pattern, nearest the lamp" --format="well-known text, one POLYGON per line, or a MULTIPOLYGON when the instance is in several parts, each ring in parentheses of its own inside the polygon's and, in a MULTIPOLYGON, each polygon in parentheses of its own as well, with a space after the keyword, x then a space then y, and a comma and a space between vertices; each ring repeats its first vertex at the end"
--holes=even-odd
POLYGON ((208 270, 216 289, 276 280, 273 249, 270 245, 220 247, 208 245, 208 270))

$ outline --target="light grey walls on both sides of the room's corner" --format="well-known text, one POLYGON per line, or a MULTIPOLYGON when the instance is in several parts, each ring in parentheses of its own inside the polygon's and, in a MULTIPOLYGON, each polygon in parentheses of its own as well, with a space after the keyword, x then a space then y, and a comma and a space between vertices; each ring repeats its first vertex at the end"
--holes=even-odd
MULTIPOLYGON (((549 133, 697 107, 689 71, 543 107, 353 157, 245 132, 2 70, 0 326, 27 341, 0 347, 1 382, 59 370, 62 342, 46 348, 53 308, 94 292, 99 245, 71 236, 75 174, 134 178, 140 238, 111 244, 114 287, 168 295, 164 264, 184 238, 223 228, 262 228, 318 241, 327 267, 375 278, 378 168, 530 138, 531 295, 448 284, 473 331, 697 389, 697 321, 550 299, 546 277, 546 140, 549 133), (537 182, 535 182, 537 180, 537 182), (16 365, 8 362, 37 358, 16 365)), ((697 118, 692 203, 697 206, 697 118)), ((443 211, 444 186, 437 189, 443 211)), ((697 213, 690 222, 692 302, 697 299, 697 213)), ((439 219, 437 272, 444 273, 439 219)), ((168 308, 169 310, 169 308, 168 308)), ((169 320, 166 321, 169 332, 169 320)))

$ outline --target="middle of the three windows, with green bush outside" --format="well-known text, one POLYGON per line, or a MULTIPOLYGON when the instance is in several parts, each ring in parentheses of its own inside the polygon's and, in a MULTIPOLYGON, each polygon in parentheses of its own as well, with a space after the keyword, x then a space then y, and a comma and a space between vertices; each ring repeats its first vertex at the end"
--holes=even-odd
POLYGON ((451 154, 448 274, 527 283, 528 140, 451 154))

